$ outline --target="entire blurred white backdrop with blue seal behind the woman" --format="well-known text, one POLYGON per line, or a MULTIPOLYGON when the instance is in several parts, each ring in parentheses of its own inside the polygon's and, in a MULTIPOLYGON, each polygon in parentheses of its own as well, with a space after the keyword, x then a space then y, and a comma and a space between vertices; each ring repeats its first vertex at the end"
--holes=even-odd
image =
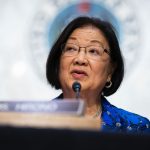
POLYGON ((61 93, 47 83, 45 63, 57 35, 78 15, 114 25, 125 78, 107 98, 150 119, 149 0, 0 0, 0 101, 51 100, 61 93))

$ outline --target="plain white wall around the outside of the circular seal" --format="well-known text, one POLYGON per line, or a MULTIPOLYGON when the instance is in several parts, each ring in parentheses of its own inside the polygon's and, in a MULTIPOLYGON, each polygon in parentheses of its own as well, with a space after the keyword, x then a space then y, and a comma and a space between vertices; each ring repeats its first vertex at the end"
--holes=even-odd
MULTIPOLYGON (((0 0, 0 100, 50 100, 60 93, 41 79, 31 61, 28 32, 43 0, 0 0)), ((150 1, 132 0, 141 26, 140 57, 108 100, 150 118, 150 1), (139 59, 139 60, 138 60, 139 59)), ((136 56, 135 56, 136 57, 136 56)), ((34 61, 34 58, 33 58, 34 61)), ((45 67, 45 66, 43 66, 45 67)))

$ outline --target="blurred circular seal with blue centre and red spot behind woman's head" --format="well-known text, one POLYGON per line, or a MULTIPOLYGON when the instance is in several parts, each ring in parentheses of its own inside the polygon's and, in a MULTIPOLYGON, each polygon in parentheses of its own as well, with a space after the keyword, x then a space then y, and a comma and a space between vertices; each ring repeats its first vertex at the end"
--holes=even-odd
POLYGON ((137 59, 140 41, 138 19, 125 1, 112 0, 47 0, 36 13, 30 28, 29 45, 32 63, 38 74, 45 76, 48 53, 57 36, 73 18, 86 15, 109 21, 117 29, 120 47, 125 59, 127 74, 137 59), (135 57, 136 56, 136 57, 135 57))

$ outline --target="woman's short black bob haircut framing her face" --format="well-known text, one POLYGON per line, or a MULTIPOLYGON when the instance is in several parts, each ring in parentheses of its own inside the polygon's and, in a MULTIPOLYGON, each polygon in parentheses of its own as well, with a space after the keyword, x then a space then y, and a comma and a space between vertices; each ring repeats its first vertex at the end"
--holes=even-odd
POLYGON ((103 32, 105 38, 108 41, 110 47, 110 57, 113 64, 116 64, 115 70, 112 74, 112 86, 110 88, 103 89, 104 96, 109 96, 117 91, 119 88, 123 76, 124 76, 124 63, 119 42, 115 33, 114 27, 107 21, 99 18, 80 16, 72 20, 62 31, 56 42, 51 48, 47 63, 46 63, 46 77, 48 82, 55 89, 61 89, 59 81, 59 63, 62 54, 61 45, 66 43, 71 33, 80 27, 87 25, 95 26, 103 32))

